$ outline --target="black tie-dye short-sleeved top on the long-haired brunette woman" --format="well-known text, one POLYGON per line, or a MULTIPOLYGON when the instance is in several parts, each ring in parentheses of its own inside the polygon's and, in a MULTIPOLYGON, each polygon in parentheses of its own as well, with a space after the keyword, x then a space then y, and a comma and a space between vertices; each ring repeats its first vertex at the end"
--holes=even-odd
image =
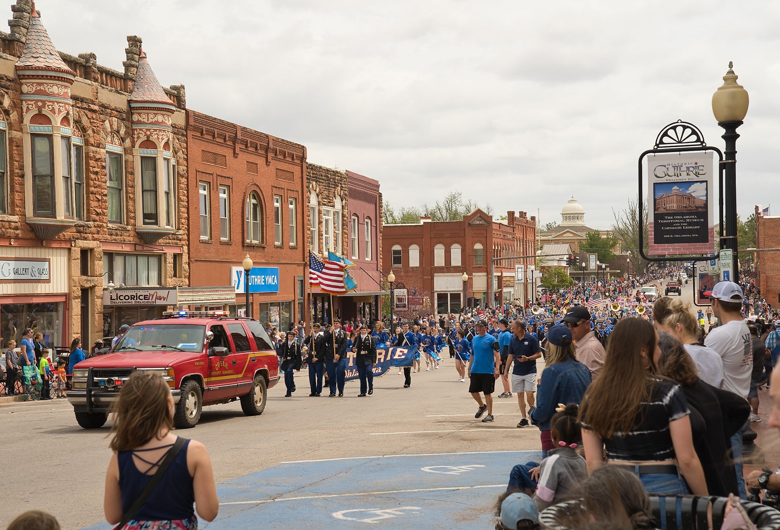
MULTIPOLYGON (((679 384, 660 377, 648 377, 653 385, 650 401, 643 401, 628 433, 616 432, 604 439, 607 460, 664 461, 675 459, 669 423, 690 414, 688 401, 679 384)), ((590 429, 582 423, 583 429, 590 429)))

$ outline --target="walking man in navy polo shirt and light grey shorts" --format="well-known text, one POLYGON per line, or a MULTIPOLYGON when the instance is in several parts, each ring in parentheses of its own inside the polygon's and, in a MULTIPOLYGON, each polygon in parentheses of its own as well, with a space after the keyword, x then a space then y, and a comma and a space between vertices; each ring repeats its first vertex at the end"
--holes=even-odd
POLYGON ((536 391, 536 360, 541 357, 539 341, 533 335, 526 333, 526 323, 523 320, 515 320, 512 323, 512 341, 509 342, 509 358, 507 366, 512 367, 512 390, 517 394, 517 402, 520 405, 520 413, 523 419, 518 427, 528 426, 526 416, 526 400, 528 407, 534 406, 534 392, 536 391))

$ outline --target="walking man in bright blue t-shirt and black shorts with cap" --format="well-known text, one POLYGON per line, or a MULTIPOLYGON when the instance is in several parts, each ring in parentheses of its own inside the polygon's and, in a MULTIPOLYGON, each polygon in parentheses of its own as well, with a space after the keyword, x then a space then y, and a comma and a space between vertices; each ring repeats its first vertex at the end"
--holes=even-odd
POLYGON ((488 323, 484 320, 477 322, 477 335, 471 339, 471 357, 469 359, 469 392, 474 401, 480 405, 474 418, 480 418, 485 411, 488 415, 483 422, 493 421, 493 390, 495 380, 498 379, 498 339, 488 334, 488 323), (485 402, 482 402, 484 394, 485 402))

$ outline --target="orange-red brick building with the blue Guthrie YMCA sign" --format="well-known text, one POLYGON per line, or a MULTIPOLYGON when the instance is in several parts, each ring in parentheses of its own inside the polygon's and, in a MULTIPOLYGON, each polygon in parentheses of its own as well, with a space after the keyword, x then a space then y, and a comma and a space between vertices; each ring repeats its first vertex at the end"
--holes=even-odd
POLYGON ((250 281, 252 316, 287 330, 305 314, 306 147, 192 110, 187 120, 190 304, 243 313, 248 253, 276 278, 250 281))

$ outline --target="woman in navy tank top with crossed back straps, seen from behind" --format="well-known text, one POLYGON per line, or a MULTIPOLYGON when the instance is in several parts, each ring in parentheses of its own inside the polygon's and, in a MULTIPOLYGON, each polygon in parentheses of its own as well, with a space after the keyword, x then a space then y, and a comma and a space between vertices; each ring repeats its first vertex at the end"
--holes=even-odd
POLYGON ((114 454, 105 474, 103 500, 106 521, 116 525, 129 517, 121 527, 126 530, 195 530, 196 509, 201 518, 214 521, 219 500, 211 459, 203 443, 172 433, 174 403, 162 376, 134 372, 122 385, 113 412, 109 447, 114 454), (168 451, 173 460, 160 482, 140 509, 129 513, 168 451))

